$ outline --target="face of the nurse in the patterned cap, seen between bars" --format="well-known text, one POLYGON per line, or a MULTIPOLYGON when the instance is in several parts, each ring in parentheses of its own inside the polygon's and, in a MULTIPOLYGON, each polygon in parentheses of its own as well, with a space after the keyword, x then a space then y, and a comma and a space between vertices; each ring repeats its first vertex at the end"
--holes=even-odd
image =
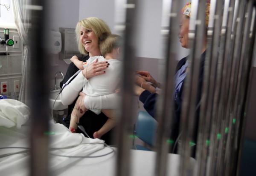
POLYGON ((183 48, 189 48, 189 17, 181 14, 179 39, 183 48))

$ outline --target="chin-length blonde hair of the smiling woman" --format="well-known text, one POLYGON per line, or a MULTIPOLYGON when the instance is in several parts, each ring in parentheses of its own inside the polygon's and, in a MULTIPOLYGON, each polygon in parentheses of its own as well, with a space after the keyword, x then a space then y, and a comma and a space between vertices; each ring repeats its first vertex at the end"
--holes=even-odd
POLYGON ((80 31, 81 28, 85 28, 87 30, 92 30, 96 37, 98 38, 98 43, 100 43, 100 39, 103 35, 111 34, 111 30, 108 25, 102 20, 97 17, 88 17, 84 20, 79 21, 76 24, 76 40, 78 44, 78 49, 81 54, 89 54, 88 51, 85 50, 84 46, 80 42, 80 31))

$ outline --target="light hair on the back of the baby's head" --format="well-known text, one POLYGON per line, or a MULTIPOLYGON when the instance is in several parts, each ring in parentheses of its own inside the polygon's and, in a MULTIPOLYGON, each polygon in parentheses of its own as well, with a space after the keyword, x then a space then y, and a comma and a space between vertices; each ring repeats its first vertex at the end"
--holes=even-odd
POLYGON ((104 35, 99 43, 99 49, 103 57, 113 51, 114 48, 121 47, 122 37, 116 34, 104 35))

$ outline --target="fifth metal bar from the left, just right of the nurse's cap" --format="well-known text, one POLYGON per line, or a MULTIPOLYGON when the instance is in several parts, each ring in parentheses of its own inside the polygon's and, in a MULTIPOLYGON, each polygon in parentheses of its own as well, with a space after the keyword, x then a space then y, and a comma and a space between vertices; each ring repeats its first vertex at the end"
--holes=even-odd
POLYGON ((198 126, 197 173, 205 175, 207 164, 207 151, 209 146, 209 131, 212 114, 212 99, 215 90, 215 75, 218 60, 218 47, 220 43, 220 31, 222 21, 222 1, 212 1, 207 37, 207 53, 204 64, 204 84, 202 90, 200 121, 198 126))

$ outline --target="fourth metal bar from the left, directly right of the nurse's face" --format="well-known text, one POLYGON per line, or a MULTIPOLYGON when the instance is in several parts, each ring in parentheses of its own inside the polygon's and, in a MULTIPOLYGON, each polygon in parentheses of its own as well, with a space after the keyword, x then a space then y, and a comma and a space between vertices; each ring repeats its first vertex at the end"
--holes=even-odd
POLYGON ((182 130, 182 144, 181 144, 181 167, 180 175, 187 175, 189 167, 189 158, 191 156, 191 145, 195 144, 195 124, 198 123, 196 117, 197 111, 197 95, 198 95, 198 77, 202 54, 202 46, 205 34, 204 17, 205 17, 205 1, 192 0, 192 13, 195 20, 190 17, 189 22, 189 41, 190 48, 192 48, 189 57, 189 66, 187 68, 186 82, 184 87, 184 99, 182 103, 181 112, 181 130, 182 130), (197 10, 198 9, 198 10, 197 10))

